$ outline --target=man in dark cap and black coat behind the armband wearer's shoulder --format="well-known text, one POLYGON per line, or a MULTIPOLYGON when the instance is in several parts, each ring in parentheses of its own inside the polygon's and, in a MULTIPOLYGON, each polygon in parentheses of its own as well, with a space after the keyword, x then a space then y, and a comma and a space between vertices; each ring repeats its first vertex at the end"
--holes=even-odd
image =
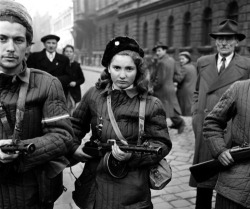
POLYGON ((32 53, 27 60, 27 65, 57 77, 62 83, 65 95, 67 95, 67 86, 71 81, 67 71, 69 59, 56 52, 59 40, 60 37, 53 34, 42 37, 41 41, 45 48, 40 52, 32 53))

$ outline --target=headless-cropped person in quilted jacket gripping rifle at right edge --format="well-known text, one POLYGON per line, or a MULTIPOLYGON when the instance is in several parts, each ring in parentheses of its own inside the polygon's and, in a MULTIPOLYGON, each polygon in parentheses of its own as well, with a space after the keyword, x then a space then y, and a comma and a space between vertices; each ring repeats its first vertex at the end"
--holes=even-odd
MULTIPOLYGON (((228 166, 216 183, 216 209, 250 208, 249 159, 235 162, 230 154, 233 146, 250 142, 250 80, 235 82, 205 118, 203 135, 214 158, 228 166), (231 146, 225 141, 225 129, 231 121, 231 146)), ((247 156, 246 156, 247 157, 247 156)))

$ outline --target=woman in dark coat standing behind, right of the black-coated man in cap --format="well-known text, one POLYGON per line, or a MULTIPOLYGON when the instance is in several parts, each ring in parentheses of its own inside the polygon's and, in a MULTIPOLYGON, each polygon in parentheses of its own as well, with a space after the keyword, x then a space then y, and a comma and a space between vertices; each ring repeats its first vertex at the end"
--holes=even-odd
POLYGON ((68 74, 71 75, 71 81, 68 85, 68 94, 67 94, 67 106, 72 114, 74 109, 77 106, 77 103, 80 102, 81 96, 81 84, 84 83, 85 78, 82 72, 82 68, 78 62, 74 60, 74 47, 72 45, 66 45, 63 48, 63 55, 69 58, 70 67, 68 68, 68 74))

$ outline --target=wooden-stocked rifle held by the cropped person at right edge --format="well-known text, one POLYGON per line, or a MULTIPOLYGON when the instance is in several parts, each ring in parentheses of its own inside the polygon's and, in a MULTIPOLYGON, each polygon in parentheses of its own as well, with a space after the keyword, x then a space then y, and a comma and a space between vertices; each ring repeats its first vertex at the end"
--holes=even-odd
MULTIPOLYGON (((229 150, 234 163, 241 163, 243 161, 250 160, 250 145, 244 143, 241 146, 232 147, 229 150)), ((194 179, 200 183, 208 180, 216 174, 230 169, 231 166, 224 166, 218 159, 209 160, 203 163, 198 163, 189 168, 194 179)))

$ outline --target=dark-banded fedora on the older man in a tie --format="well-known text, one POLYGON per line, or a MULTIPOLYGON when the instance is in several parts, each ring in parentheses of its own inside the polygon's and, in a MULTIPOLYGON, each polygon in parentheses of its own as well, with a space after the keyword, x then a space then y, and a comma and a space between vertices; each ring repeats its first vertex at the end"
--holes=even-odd
POLYGON ((246 36, 242 33, 238 33, 238 23, 231 19, 223 20, 215 33, 209 34, 212 38, 216 39, 218 36, 231 36, 234 35, 239 41, 242 41, 246 36))

